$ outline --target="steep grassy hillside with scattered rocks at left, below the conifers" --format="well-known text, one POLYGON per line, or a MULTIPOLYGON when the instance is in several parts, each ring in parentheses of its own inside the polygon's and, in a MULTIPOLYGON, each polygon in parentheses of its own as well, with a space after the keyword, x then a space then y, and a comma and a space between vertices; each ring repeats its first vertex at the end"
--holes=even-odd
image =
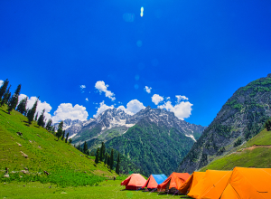
POLYGON ((103 163, 95 165, 94 158, 82 154, 65 141, 57 140, 45 128, 34 121, 28 125, 27 118, 17 111, 7 114, 0 108, 0 181, 41 181, 61 186, 93 185, 105 177, 117 174, 110 172, 103 163), (23 133, 19 136, 17 132, 23 133), (21 146, 21 147, 20 147, 21 146), (24 155, 28 157, 25 158, 24 155), (10 178, 4 178, 5 167, 10 178), (23 175, 22 170, 29 170, 23 175), (44 175, 43 171, 51 175, 44 175))

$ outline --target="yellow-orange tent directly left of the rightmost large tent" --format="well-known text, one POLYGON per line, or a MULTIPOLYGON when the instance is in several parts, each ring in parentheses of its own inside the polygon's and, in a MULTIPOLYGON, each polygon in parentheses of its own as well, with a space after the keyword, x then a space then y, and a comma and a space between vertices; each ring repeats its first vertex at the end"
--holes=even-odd
POLYGON ((231 174, 232 171, 207 170, 204 177, 187 195, 199 199, 219 199, 231 174))

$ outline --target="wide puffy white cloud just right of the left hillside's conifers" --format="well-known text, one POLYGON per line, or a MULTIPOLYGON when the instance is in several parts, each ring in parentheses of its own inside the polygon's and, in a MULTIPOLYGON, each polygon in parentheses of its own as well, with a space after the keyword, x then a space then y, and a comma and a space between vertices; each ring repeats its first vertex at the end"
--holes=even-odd
POLYGON ((61 103, 56 111, 54 111, 52 121, 59 122, 66 118, 79 119, 84 121, 88 118, 89 114, 85 107, 78 104, 72 106, 70 103, 61 103))

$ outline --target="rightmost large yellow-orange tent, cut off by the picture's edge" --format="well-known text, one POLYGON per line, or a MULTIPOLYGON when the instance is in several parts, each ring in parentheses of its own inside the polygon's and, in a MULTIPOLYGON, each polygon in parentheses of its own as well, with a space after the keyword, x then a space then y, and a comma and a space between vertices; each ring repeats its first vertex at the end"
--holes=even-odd
POLYGON ((271 198, 271 168, 235 167, 221 199, 271 198))

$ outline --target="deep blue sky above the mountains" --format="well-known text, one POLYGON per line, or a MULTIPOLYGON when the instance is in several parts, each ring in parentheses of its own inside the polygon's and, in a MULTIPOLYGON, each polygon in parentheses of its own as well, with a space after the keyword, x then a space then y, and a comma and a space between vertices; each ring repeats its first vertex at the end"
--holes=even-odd
POLYGON ((3 0, 0 80, 40 96, 55 120, 162 106, 207 126, 271 72, 270 19, 267 0, 3 0))

